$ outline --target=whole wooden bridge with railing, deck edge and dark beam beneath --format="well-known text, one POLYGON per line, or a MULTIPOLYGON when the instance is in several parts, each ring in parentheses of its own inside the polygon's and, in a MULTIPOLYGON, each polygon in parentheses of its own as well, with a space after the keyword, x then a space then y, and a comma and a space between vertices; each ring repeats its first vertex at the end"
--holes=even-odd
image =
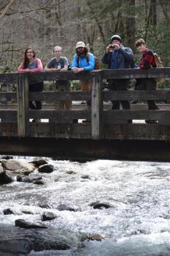
POLYGON ((0 92, 0 153, 169 161, 170 109, 169 104, 164 102, 170 100, 170 90, 103 90, 103 79, 113 77, 169 78, 170 68, 95 70, 79 74, 1 73, 0 82, 3 85, 16 84, 16 91, 2 89, 0 92), (28 82, 31 80, 57 79, 91 79, 91 93, 28 93, 28 82), (46 104, 42 110, 29 110, 29 100, 42 100, 46 104), (72 110, 57 110, 52 104, 47 104, 57 100, 91 100, 91 110, 79 104, 75 104, 72 110), (111 105, 103 104, 108 100, 160 100, 163 104, 159 104, 160 110, 147 110, 146 104, 131 104, 131 110, 111 110, 111 105), (9 102, 13 104, 4 104, 9 102), (48 121, 32 123, 30 119, 48 121), (73 119, 91 119, 91 123, 75 124, 73 119), (141 123, 140 120, 146 119, 158 120, 158 124, 141 123), (133 120, 133 123, 129 124, 128 120, 133 120))

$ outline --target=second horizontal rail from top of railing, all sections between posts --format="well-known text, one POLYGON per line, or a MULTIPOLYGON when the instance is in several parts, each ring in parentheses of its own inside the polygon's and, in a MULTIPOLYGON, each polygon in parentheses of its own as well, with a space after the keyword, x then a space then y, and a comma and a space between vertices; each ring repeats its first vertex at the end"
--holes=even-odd
MULTIPOLYGON (((30 100, 90 100, 91 93, 82 91, 54 92, 44 91, 42 93, 29 93, 30 100)), ((168 100, 169 89, 158 89, 156 91, 103 91, 103 100, 168 100)), ((1 92, 0 100, 16 101, 16 92, 1 92)))

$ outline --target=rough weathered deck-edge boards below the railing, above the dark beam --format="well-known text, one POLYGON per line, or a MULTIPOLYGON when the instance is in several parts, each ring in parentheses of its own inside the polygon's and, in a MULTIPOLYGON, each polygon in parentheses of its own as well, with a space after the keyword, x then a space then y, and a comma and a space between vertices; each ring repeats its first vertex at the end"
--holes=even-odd
MULTIPOLYGON (((0 123, 0 136, 18 137, 17 124, 0 123)), ((30 123, 29 137, 91 139, 91 124, 30 123)), ((170 125, 105 124, 104 139, 169 141, 170 125)))

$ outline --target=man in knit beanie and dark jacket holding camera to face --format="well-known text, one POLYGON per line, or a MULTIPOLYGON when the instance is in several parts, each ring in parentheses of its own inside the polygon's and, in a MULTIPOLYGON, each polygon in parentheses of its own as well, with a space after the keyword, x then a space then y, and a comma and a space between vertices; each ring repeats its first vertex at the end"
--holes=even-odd
MULTIPOLYGON (((133 52, 129 47, 121 44, 121 37, 113 35, 111 44, 105 50, 101 59, 103 64, 108 65, 108 69, 129 69, 133 61, 133 52)), ((129 87, 130 79, 109 79, 109 91, 126 91, 129 87)), ((120 110, 120 103, 124 110, 130 110, 129 100, 111 100, 112 110, 120 110)), ((131 120, 128 120, 131 123, 131 120)))

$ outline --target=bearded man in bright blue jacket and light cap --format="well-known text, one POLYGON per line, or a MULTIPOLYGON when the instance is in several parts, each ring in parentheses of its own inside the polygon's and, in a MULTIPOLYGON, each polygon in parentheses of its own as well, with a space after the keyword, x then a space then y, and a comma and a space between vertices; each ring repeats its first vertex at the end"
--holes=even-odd
MULTIPOLYGON (((94 55, 92 53, 88 53, 88 49, 86 45, 82 41, 79 41, 76 44, 76 53, 73 57, 71 70, 73 70, 73 72, 76 74, 82 71, 91 71, 94 69, 95 69, 94 55)), ((82 91, 91 91, 90 79, 88 80, 84 79, 82 81, 79 81, 79 83, 82 91)), ((86 104, 87 104, 87 109, 90 109, 91 101, 87 100, 86 104)), ((84 120, 83 123, 86 123, 89 121, 90 120, 84 120)))

